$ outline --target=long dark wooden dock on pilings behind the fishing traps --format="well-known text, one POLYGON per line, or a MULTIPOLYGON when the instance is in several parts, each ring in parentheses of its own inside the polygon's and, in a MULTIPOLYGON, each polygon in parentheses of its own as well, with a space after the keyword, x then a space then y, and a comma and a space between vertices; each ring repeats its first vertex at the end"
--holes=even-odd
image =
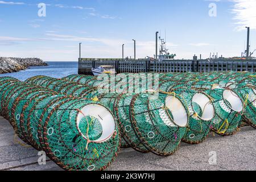
POLYGON ((141 73, 141 72, 213 72, 236 71, 255 72, 256 60, 164 60, 152 61, 150 59, 79 59, 79 74, 91 75, 92 68, 101 65, 112 65, 117 73, 141 73))

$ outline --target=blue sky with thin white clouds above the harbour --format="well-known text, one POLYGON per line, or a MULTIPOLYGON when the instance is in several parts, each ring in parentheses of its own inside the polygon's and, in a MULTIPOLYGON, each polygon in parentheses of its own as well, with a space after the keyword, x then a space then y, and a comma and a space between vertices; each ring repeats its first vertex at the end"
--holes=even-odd
MULTIPOLYGON (((0 56, 76 61, 82 57, 153 56, 155 32, 179 59, 194 54, 240 56, 246 29, 256 49, 255 0, 13 0, 0 1, 0 56), (38 16, 45 3, 46 17, 38 16), (209 16, 210 3, 217 14, 209 16)), ((255 52, 256 54, 256 52, 255 52)))

